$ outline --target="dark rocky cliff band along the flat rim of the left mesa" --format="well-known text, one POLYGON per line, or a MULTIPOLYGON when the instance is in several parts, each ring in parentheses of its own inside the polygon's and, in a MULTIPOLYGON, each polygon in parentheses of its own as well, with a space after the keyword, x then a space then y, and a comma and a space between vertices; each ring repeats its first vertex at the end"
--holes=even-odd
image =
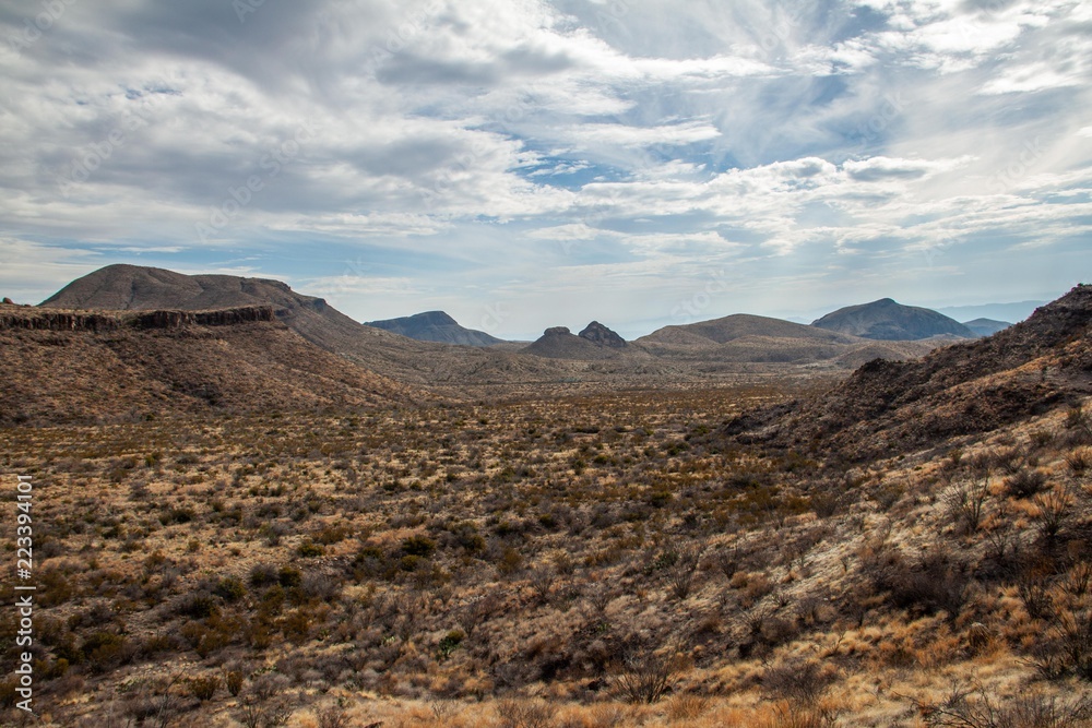
POLYGON ((47 311, 0 309, 0 329, 35 331, 117 331, 119 329, 180 329, 182 326, 229 326, 259 321, 276 321, 272 306, 244 306, 213 311, 47 311))

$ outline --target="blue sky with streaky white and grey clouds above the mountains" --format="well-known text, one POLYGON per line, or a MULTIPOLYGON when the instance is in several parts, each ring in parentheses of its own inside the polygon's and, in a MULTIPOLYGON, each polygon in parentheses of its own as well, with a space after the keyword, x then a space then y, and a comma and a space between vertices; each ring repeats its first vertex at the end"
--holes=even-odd
POLYGON ((0 0, 0 295, 534 338, 1092 282, 1087 0, 0 0))

